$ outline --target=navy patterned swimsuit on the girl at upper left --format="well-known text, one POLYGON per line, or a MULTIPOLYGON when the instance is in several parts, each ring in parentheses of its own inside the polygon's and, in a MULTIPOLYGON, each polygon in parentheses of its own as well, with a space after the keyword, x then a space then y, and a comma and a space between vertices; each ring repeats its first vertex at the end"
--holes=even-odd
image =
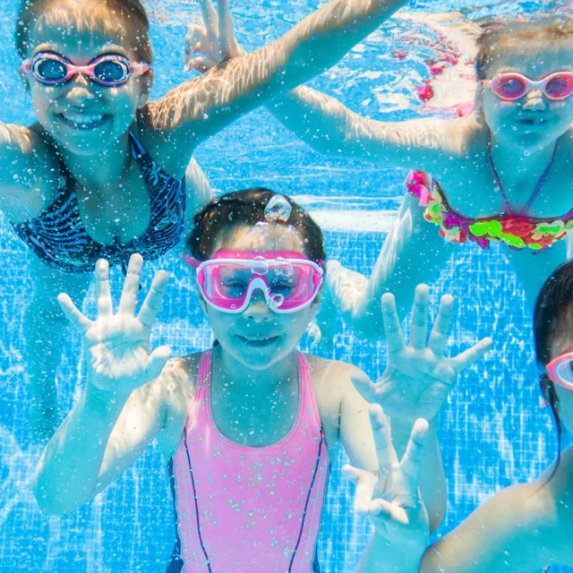
POLYGON ((115 244, 94 241, 81 222, 75 180, 64 165, 60 194, 37 218, 13 224, 21 240, 52 269, 69 273, 92 272, 98 259, 121 264, 124 274, 133 252, 156 259, 179 243, 184 233, 185 180, 167 175, 130 133, 130 150, 150 194, 150 224, 145 233, 127 244, 115 235, 115 244))

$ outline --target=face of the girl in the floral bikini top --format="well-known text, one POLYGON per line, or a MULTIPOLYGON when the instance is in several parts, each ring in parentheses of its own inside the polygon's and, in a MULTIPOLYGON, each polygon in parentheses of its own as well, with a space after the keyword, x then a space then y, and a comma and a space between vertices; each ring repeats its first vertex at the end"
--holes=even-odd
MULTIPOLYGON (((550 46, 516 42, 500 49, 490 65, 487 79, 498 73, 521 73, 541 80, 553 72, 573 72, 573 41, 560 40, 550 46)), ((483 112, 493 135, 519 147, 535 149, 551 144, 573 123, 573 96, 552 101, 541 90, 531 90, 517 101, 503 101, 492 90, 483 90, 483 112)))

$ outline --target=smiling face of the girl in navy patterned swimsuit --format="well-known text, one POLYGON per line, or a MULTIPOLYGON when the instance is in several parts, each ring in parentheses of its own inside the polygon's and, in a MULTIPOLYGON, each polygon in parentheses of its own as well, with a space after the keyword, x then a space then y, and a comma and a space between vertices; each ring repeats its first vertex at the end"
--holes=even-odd
MULTIPOLYGON (((74 21, 73 14, 69 21, 74 21)), ((102 54, 121 54, 137 61, 124 44, 118 35, 104 31, 77 30, 72 23, 65 28, 46 23, 37 26, 27 56, 50 51, 76 65, 89 64, 102 54)), ((81 74, 57 86, 43 85, 30 75, 26 81, 39 123, 65 150, 83 156, 101 153, 121 139, 147 99, 145 80, 137 76, 114 88, 81 74)))

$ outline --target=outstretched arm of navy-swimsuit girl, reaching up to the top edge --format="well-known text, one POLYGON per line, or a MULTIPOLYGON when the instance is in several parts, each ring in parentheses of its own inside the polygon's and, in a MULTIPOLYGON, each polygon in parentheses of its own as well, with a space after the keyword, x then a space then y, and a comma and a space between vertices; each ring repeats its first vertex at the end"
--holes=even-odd
MULTIPOLYGON (((194 147, 239 115, 336 64, 402 4, 404 0, 331 0, 269 46, 222 62, 151 103, 147 120, 172 144, 194 147)), ((218 8, 225 26, 228 0, 219 0, 218 8)), ((206 24, 213 25, 209 14, 206 24)))

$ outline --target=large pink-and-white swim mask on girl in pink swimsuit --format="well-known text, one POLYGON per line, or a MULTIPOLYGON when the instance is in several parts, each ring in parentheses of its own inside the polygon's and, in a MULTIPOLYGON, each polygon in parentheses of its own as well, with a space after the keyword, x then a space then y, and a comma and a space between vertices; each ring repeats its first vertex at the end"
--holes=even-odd
POLYGON ((182 258, 197 269, 197 283, 207 304, 223 312, 244 312, 257 289, 271 311, 296 312, 316 298, 324 275, 320 265, 300 252, 265 251, 263 256, 221 249, 209 261, 182 258))

